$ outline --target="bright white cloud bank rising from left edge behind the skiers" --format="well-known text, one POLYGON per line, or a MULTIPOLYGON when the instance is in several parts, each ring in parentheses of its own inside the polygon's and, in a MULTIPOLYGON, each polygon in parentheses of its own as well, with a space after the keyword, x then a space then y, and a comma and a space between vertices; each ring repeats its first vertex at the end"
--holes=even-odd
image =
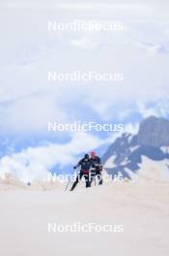
MULTIPOLYGON (((102 144, 112 142, 112 138, 101 140, 87 133, 74 133, 67 144, 51 144, 28 147, 0 159, 0 176, 12 173, 24 182, 42 180, 55 166, 65 168, 74 165, 77 156, 102 144)), ((69 172, 68 172, 69 173, 69 172)))

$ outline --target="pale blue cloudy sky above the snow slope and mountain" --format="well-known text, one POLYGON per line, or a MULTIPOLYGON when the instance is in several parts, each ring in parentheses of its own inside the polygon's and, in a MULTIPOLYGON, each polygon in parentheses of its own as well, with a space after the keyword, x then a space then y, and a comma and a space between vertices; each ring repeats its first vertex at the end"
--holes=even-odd
POLYGON ((167 1, 0 2, 0 174, 24 181, 67 172, 117 133, 47 131, 48 121, 123 123, 168 118, 167 1), (162 14, 162 15, 161 15, 162 14), (123 31, 48 31, 47 22, 121 22, 123 31), (47 80, 47 72, 122 72, 124 81, 47 80))

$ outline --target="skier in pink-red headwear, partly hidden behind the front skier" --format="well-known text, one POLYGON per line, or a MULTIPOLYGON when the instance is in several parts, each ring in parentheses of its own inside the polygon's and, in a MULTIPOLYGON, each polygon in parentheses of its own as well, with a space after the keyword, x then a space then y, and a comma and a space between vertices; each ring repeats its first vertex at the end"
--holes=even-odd
POLYGON ((99 156, 95 151, 91 152, 91 173, 90 173, 90 182, 92 183, 94 177, 99 179, 99 185, 102 185, 102 165, 99 156))

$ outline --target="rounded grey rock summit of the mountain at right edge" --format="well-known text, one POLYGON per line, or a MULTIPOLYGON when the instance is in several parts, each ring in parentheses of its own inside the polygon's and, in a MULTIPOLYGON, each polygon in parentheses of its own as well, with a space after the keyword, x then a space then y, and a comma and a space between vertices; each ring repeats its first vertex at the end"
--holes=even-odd
POLYGON ((138 143, 155 147, 169 145, 169 121, 155 116, 144 119, 138 132, 138 143))

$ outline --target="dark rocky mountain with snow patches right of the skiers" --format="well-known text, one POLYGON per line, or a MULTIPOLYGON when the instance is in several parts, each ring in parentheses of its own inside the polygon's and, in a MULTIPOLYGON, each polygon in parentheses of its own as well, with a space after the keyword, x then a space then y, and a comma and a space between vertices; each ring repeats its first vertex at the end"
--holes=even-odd
POLYGON ((130 178, 127 170, 137 173, 142 164, 142 156, 153 161, 169 159, 168 151, 161 146, 169 146, 169 121, 164 118, 151 116, 144 119, 139 128, 138 135, 123 134, 102 157, 105 170, 111 175, 122 173, 130 178), (106 168, 106 162, 113 156, 112 167, 106 168))

